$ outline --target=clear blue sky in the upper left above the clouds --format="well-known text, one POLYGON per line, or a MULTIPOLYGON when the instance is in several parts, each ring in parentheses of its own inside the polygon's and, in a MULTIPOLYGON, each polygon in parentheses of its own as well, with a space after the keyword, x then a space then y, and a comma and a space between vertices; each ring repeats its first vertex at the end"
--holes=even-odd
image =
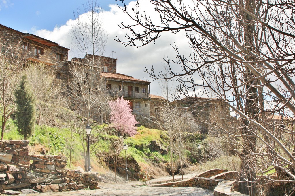
MULTIPOLYGON (((128 4, 131 0, 125 0, 128 4)), ((121 1, 99 0, 102 9, 109 11, 109 4, 123 5, 121 1)), ((0 0, 0 23, 18 31, 47 29, 62 26, 74 19, 73 12, 87 0, 0 0)))

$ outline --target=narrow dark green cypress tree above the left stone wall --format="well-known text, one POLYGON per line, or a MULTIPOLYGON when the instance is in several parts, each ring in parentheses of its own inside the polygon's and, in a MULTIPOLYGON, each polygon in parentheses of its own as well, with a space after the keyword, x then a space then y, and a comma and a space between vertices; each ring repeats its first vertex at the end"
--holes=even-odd
POLYGON ((24 136, 24 140, 29 138, 35 130, 36 108, 34 96, 30 86, 27 84, 27 76, 24 75, 19 86, 14 92, 17 106, 16 120, 19 134, 24 136))

